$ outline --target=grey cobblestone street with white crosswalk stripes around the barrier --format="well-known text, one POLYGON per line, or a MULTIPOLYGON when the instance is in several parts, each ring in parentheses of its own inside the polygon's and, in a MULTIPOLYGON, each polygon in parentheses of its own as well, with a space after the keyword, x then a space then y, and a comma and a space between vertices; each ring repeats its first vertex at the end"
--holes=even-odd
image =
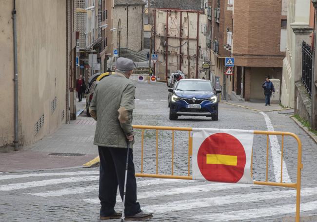
MULTIPOLYGON (((169 120, 165 83, 135 82, 137 88, 134 125, 179 126, 245 130, 286 131, 302 142, 301 216, 317 216, 317 144, 280 111, 259 111, 219 103, 219 120, 206 117, 179 117, 169 120)), ((80 103, 84 106, 84 103, 80 103)), ((276 105, 277 106, 277 105, 276 105)), ((280 109, 277 106, 277 109, 280 109)), ((272 110, 277 110, 272 107, 272 110)), ((33 146, 32 152, 76 152, 97 156, 93 145, 95 122, 83 113, 77 121, 64 124, 56 133, 33 146), (79 141, 78 138, 81 138, 79 141)), ((171 171, 171 133, 159 132, 160 174, 171 171)), ((266 136, 255 135, 253 142, 253 179, 265 181, 266 136)), ((297 144, 284 138, 283 181, 296 182, 297 144)), ((271 182, 279 182, 276 161, 281 137, 270 137, 269 172, 271 182), (278 150, 278 151, 277 151, 278 150)), ((141 132, 136 130, 134 145, 136 172, 141 165, 141 132)), ((156 132, 144 132, 144 173, 155 173, 156 132)), ((1 154, 2 155, 2 154, 1 154)), ((187 174, 188 133, 175 132, 174 173, 187 174)), ((89 156, 89 157, 90 157, 89 156)), ((67 157, 64 157, 67 158, 67 157)), ((70 159, 71 160, 71 159, 70 159)), ((40 161, 40 160, 39 160, 40 161)), ((80 161, 79 161, 80 162, 80 161)), ((85 162, 82 162, 82 164, 85 162)), ((9 163, 8 163, 9 164, 9 163)), ((67 167, 70 165, 67 165, 67 167)), ((56 166, 61 168, 66 166, 56 166)), ((53 167, 51 167, 53 168, 53 167)), ((0 173, 0 221, 3 222, 92 222, 99 221, 99 169, 76 168, 24 170, 0 173)), ((31 169, 31 168, 30 168, 31 169)), ((44 168, 42 168, 44 169, 44 168)), ((8 170, 9 171, 9 170, 8 170)), ((211 183, 173 179, 137 178, 138 201, 144 211, 154 213, 153 222, 282 222, 295 216, 296 190, 251 184, 211 183)), ((129 192, 129 190, 127 190, 129 192)), ((116 210, 121 210, 118 196, 116 210)), ((111 220, 110 220, 111 221, 111 220)), ((119 220, 113 220, 119 221, 119 220)))

